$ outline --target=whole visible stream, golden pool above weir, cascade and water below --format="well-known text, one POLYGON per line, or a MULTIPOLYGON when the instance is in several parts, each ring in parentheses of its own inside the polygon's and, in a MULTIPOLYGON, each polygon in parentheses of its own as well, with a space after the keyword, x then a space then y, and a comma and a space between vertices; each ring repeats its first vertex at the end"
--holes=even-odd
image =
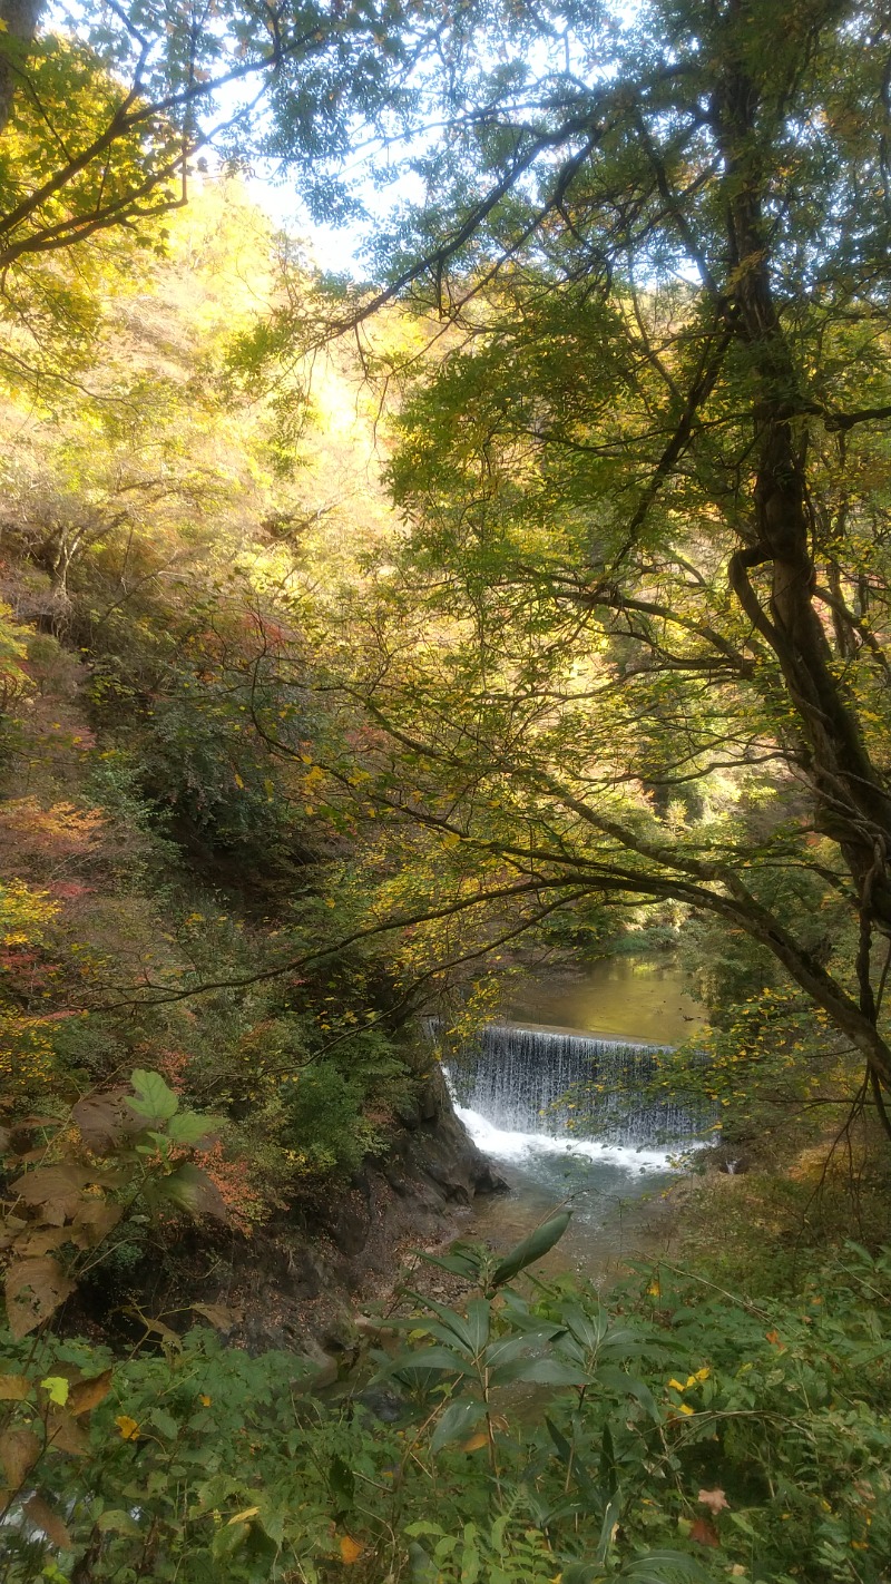
POLYGON ((549 1256, 595 1280, 654 1253, 654 1213, 696 1107, 646 1093, 658 1052, 701 1026, 673 961, 612 958, 584 974, 525 980, 505 1020, 483 1030, 449 1074, 468 1133, 499 1164, 510 1194, 478 1201, 470 1236, 503 1250, 555 1205, 573 1223, 549 1256))

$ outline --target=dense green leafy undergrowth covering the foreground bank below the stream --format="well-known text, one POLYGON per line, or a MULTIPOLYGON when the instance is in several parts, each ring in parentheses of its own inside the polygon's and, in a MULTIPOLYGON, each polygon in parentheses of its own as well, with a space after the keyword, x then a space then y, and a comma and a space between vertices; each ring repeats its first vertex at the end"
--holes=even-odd
POLYGON ((655 1267, 606 1307, 521 1277, 565 1220, 500 1266, 454 1245, 464 1307, 415 1294, 329 1400, 206 1327, 6 1340, 5 1584, 882 1584, 891 1253, 790 1300, 655 1267))

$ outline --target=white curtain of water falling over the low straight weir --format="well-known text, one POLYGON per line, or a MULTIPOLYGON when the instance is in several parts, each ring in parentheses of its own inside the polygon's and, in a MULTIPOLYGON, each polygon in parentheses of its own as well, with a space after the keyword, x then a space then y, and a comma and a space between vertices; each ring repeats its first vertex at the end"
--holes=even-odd
POLYGON ((641 1148, 692 1139, 704 1107, 650 1090, 666 1045, 491 1023, 449 1071, 456 1101, 503 1133, 641 1148))

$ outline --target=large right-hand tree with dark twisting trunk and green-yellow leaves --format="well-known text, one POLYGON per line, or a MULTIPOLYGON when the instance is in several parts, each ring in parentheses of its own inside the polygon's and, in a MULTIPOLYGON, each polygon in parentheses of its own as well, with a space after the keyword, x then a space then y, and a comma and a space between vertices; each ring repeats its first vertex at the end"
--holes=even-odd
POLYGON ((391 261, 445 326, 389 371, 380 795, 541 898, 745 931, 883 1114, 886 17, 538 17, 535 70, 478 52, 391 261))

